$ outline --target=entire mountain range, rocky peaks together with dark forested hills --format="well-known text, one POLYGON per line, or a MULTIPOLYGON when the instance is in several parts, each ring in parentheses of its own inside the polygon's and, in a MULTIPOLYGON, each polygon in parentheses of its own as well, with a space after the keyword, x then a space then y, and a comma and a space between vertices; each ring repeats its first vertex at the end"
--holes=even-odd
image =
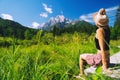
POLYGON ((29 36, 27 39, 31 39, 37 34, 39 29, 50 32, 55 30, 55 34, 58 35, 65 32, 74 33, 75 31, 91 34, 94 30, 94 26, 83 20, 72 21, 65 18, 63 15, 50 18, 48 22, 44 23, 44 25, 40 26, 38 29, 29 28, 18 22, 0 18, 0 36, 11 37, 14 35, 14 37, 20 39, 26 39, 26 37, 29 36))

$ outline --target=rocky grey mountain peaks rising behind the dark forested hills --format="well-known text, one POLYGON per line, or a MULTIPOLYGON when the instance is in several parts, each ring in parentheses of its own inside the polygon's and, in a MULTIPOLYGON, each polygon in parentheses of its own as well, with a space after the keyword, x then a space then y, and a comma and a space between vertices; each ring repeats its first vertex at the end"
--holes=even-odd
POLYGON ((65 28, 69 25, 75 25, 76 23, 80 23, 81 25, 92 25, 89 22, 86 22, 84 20, 70 20, 66 18, 64 15, 58 15, 56 17, 51 17, 48 22, 43 23, 41 26, 39 26, 39 29, 50 31, 53 29, 53 26, 57 26, 59 28, 65 28))

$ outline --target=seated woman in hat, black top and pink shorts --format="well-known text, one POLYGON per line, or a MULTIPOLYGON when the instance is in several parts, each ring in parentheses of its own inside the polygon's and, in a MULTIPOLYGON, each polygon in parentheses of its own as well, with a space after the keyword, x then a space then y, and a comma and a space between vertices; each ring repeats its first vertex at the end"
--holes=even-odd
POLYGON ((110 29, 108 26, 108 17, 105 9, 100 9, 99 12, 93 15, 93 20, 97 26, 95 35, 95 44, 98 50, 97 54, 82 54, 79 59, 80 75, 84 74, 83 65, 84 62, 96 67, 102 65, 104 72, 110 72, 108 70, 108 64, 110 62, 109 42, 110 42, 110 29))

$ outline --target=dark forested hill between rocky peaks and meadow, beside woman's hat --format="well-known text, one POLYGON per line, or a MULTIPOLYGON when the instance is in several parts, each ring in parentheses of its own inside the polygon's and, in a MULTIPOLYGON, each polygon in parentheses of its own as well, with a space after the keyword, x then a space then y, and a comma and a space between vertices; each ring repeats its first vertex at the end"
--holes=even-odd
POLYGON ((63 33, 70 33, 73 34, 74 32, 78 33, 86 33, 88 35, 91 35, 95 32, 96 27, 92 24, 86 22, 86 21, 78 21, 75 24, 68 24, 65 27, 61 27, 60 24, 56 24, 52 26, 51 32, 53 32, 53 35, 61 35, 63 33))

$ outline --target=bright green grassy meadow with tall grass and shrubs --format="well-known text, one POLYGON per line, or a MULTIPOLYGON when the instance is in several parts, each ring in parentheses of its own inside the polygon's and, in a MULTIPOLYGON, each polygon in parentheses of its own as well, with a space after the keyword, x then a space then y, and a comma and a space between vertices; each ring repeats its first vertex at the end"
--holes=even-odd
MULTIPOLYGON (((120 51, 119 43, 120 40, 111 40, 111 55, 120 51)), ((0 80, 77 80, 74 75, 79 74, 79 55, 83 53, 96 53, 94 34, 53 37, 47 33, 39 40, 0 37, 0 80)), ((84 78, 112 80, 102 74, 84 78)))

